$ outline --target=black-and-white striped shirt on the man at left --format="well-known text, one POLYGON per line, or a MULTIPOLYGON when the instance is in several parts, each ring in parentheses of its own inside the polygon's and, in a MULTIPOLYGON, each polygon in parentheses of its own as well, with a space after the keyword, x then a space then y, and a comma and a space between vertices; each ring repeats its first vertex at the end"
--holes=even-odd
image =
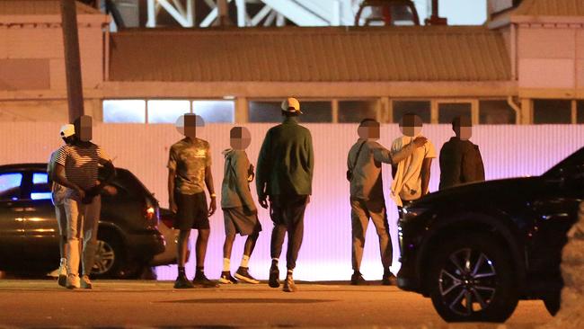
MULTIPOLYGON (((99 160, 110 161, 102 147, 89 143, 88 147, 64 145, 58 149, 57 163, 65 167, 66 179, 84 191, 93 188, 97 181, 99 160)), ((77 197, 76 191, 67 188, 66 198, 77 197)))

